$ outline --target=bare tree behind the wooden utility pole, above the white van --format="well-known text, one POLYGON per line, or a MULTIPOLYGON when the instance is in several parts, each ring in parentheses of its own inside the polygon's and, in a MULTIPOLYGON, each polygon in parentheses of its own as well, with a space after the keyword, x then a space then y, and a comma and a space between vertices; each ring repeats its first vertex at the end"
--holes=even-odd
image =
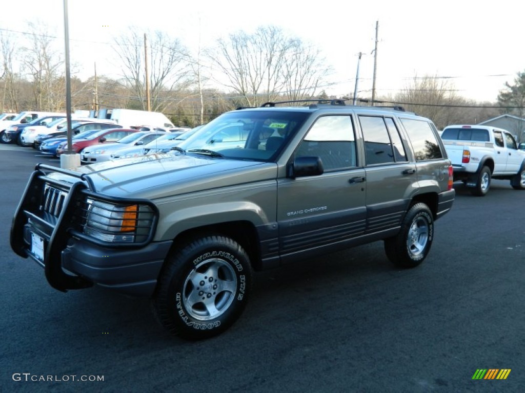
MULTIPOLYGON (((155 31, 148 34, 148 37, 151 37, 151 53, 148 54, 151 56, 151 108, 155 112, 162 112, 176 93, 191 83, 191 73, 186 61, 187 51, 178 39, 171 39, 162 31, 155 31)), ((121 70, 126 85, 131 88, 138 104, 145 110, 143 34, 139 34, 138 28, 130 27, 128 34, 117 37, 114 42, 114 49, 122 63, 121 70)))

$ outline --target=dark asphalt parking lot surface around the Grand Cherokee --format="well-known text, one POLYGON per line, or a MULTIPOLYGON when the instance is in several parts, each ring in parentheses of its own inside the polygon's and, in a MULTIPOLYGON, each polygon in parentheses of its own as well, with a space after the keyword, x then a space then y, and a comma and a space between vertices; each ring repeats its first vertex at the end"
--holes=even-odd
POLYGON ((10 250, 37 162, 59 166, 0 145, 0 392, 523 391, 525 192, 508 181, 483 198, 457 184, 421 266, 395 268, 377 242, 259 272, 233 328, 190 343, 156 323, 148 300, 58 292, 10 250), (472 379, 479 369, 510 372, 472 379))

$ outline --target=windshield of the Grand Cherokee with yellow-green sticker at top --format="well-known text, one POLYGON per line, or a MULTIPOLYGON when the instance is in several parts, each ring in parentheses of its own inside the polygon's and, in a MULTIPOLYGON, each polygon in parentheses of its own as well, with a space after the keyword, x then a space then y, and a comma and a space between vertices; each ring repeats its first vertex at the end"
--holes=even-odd
MULTIPOLYGON (((180 145, 187 153, 233 159, 274 159, 297 132, 307 112, 242 110, 225 113, 180 145)), ((185 135, 185 134, 183 134, 185 135)))

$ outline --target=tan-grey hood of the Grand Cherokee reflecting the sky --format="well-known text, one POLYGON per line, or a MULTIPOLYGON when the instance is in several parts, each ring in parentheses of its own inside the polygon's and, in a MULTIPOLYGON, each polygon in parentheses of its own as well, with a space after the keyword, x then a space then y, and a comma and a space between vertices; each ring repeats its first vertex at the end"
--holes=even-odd
MULTIPOLYGON (((241 161, 194 155, 152 154, 105 161, 72 171, 85 173, 97 192, 128 198, 159 199, 229 185, 274 180, 275 162, 241 161), (257 168, 259 170, 256 170, 257 168)), ((49 177, 65 183, 77 178, 53 172, 49 177)))

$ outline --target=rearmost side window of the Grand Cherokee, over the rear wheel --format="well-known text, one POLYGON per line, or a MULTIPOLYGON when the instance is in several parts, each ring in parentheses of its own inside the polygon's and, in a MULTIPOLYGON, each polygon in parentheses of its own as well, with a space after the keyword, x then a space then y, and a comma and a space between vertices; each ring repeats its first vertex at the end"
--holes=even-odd
POLYGON ((443 158, 436 134, 428 122, 402 118, 401 123, 411 141, 416 161, 443 158))

